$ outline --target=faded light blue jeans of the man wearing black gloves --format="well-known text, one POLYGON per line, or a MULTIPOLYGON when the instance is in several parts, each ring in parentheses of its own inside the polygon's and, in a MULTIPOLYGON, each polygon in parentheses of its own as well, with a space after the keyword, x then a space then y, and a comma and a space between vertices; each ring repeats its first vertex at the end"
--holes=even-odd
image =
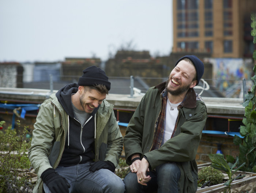
MULTIPOLYGON (((90 163, 70 167, 57 167, 56 172, 67 179, 69 193, 123 193, 124 183, 120 177, 108 169, 89 171, 90 163)), ((50 193, 44 183, 45 193, 50 193)))

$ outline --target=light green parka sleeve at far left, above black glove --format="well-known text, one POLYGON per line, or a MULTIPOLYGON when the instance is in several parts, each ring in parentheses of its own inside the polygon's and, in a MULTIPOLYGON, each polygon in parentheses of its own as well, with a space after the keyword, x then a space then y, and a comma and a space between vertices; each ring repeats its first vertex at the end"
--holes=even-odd
POLYGON ((50 102, 41 104, 29 148, 29 160, 39 177, 43 171, 52 167, 48 159, 54 140, 53 113, 50 109, 50 102))

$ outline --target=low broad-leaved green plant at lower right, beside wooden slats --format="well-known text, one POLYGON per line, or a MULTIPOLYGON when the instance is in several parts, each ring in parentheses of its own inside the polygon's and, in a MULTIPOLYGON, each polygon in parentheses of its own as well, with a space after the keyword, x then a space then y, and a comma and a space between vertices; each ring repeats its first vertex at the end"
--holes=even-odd
POLYGON ((217 170, 222 170, 224 171, 227 176, 229 177, 229 180, 227 182, 225 182, 223 185, 227 186, 226 191, 228 191, 229 193, 231 193, 231 183, 235 180, 235 179, 239 179, 244 177, 245 175, 242 175, 240 177, 235 177, 232 178, 232 175, 234 175, 234 173, 236 173, 236 171, 238 171, 239 169, 241 169, 241 167, 243 167, 245 165, 245 163, 241 164, 239 167, 237 166, 237 162, 233 164, 233 166, 230 168, 229 165, 227 164, 227 161, 224 159, 224 155, 223 154, 208 154, 209 158, 211 159, 211 167, 217 169, 217 170), (233 170, 236 167, 235 170, 233 170))

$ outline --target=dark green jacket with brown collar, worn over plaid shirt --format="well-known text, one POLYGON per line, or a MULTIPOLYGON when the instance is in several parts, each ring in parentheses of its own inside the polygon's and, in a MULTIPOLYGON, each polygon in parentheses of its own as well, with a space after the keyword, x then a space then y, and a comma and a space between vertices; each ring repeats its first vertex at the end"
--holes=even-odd
POLYGON ((207 118, 206 106, 193 88, 189 89, 183 105, 178 108, 174 137, 159 149, 150 151, 162 108, 161 93, 164 89, 165 82, 150 88, 133 114, 124 137, 126 162, 130 165, 130 156, 135 153, 147 157, 151 170, 163 163, 176 162, 181 171, 179 193, 193 193, 197 190, 195 157, 207 118))

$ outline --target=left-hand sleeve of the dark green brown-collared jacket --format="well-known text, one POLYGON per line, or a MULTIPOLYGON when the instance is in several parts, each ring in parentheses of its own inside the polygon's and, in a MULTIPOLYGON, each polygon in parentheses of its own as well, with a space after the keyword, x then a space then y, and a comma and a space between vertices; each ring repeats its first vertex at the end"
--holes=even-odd
POLYGON ((130 163, 129 156, 132 154, 138 153, 143 154, 142 152, 142 137, 143 137, 143 124, 144 124, 144 103, 145 95, 140 101, 138 107, 136 108, 125 132, 124 136, 124 151, 126 163, 130 163))

